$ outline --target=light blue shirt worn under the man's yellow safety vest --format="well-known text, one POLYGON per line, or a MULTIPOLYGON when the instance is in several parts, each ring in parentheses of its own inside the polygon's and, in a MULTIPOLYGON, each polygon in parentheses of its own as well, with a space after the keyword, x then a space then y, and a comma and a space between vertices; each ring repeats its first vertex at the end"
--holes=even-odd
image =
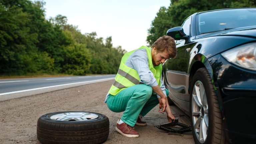
MULTIPOLYGON (((149 69, 146 49, 138 49, 134 53, 132 53, 127 59, 125 65, 137 71, 140 77, 140 82, 149 86, 158 85, 156 78, 154 77, 154 74, 149 69)), ((162 79, 160 79, 160 84, 160 88, 166 96, 165 86, 163 84, 162 79)), ((106 96, 105 103, 108 99, 108 96, 109 93, 106 96)), ((160 98, 160 96, 157 95, 157 98, 160 98)))

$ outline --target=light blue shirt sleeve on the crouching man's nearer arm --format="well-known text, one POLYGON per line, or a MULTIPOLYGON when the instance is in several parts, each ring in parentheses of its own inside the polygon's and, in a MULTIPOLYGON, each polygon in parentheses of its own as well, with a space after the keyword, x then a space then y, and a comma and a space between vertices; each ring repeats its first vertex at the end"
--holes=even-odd
POLYGON ((131 63, 140 77, 140 81, 149 86, 157 86, 158 83, 154 74, 148 67, 147 52, 143 50, 136 50, 131 55, 131 63))

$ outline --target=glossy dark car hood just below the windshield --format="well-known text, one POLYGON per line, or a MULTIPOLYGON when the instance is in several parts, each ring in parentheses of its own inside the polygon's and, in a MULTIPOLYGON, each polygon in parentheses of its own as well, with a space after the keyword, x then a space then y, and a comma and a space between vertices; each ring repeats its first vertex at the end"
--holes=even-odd
POLYGON ((244 36, 256 38, 256 26, 234 28, 230 30, 223 30, 219 32, 207 33, 203 35, 196 36, 196 39, 212 37, 212 36, 244 36))

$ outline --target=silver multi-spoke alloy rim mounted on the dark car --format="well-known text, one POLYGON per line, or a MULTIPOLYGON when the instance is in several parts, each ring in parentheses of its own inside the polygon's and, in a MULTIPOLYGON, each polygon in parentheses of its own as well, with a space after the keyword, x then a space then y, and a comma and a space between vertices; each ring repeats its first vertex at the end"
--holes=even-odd
POLYGON ((204 143, 208 134, 209 115, 205 88, 199 80, 193 87, 191 110, 196 137, 200 143, 204 143))

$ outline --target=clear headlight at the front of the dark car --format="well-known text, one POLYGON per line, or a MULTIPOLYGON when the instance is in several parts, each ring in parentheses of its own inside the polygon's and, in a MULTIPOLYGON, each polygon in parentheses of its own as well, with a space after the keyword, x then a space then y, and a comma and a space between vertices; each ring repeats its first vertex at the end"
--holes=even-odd
POLYGON ((256 43, 249 43, 221 54, 229 62, 243 68, 256 70, 256 43))

